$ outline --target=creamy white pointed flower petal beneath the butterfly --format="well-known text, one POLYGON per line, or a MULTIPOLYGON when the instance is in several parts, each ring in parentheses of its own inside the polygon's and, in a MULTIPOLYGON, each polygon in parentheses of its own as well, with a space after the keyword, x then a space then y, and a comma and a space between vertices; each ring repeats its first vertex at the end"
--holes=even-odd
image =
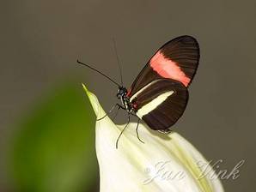
MULTIPOLYGON (((106 113, 93 93, 83 86, 96 117, 106 113)), ((100 165, 101 192, 222 192, 222 184, 213 176, 207 161, 182 136, 173 132, 161 135, 137 123, 116 125, 109 117, 96 122, 96 153, 100 165), (198 165, 198 163, 200 165, 198 165)))

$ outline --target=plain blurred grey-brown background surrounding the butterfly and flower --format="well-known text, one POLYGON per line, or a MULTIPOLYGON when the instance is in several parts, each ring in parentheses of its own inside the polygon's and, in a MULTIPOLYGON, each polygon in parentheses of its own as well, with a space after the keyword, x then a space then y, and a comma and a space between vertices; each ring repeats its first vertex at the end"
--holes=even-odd
MULTIPOLYGON (((238 179, 222 181, 226 191, 255 189, 255 1, 23 0, 3 1, 0 10, 2 157, 12 123, 56 81, 78 76, 74 86, 86 83, 106 110, 116 102, 116 87, 77 58, 119 81, 114 37, 129 87, 156 49, 188 34, 198 39, 201 59, 173 129, 207 159, 223 159, 222 170, 246 160, 238 179)), ((0 190, 8 191, 0 163, 0 190)))

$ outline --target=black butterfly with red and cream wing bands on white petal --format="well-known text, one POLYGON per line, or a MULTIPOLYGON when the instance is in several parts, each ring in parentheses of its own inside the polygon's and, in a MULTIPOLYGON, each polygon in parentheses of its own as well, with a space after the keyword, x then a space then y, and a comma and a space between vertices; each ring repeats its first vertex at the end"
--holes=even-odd
POLYGON ((128 89, 97 72, 118 85, 117 97, 121 104, 115 106, 128 112, 128 123, 133 115, 138 117, 138 123, 143 120, 149 129, 168 134, 186 109, 187 88, 197 72, 199 52, 198 41, 192 36, 168 41, 155 51, 128 89))

